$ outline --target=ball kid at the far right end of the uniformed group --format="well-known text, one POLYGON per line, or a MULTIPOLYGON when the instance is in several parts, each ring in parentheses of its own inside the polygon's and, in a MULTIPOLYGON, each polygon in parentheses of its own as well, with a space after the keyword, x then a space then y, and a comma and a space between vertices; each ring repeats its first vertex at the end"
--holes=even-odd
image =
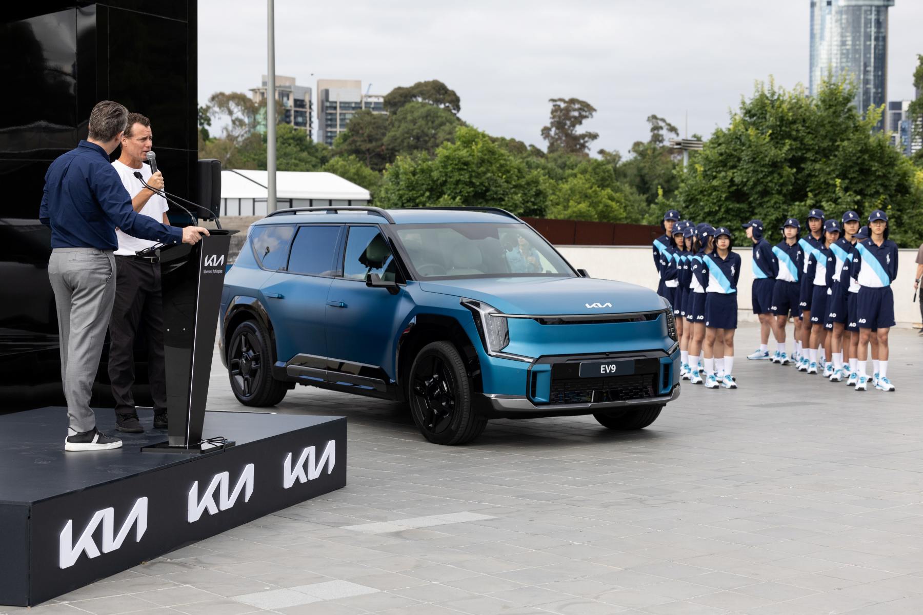
POLYGON ((865 346, 872 327, 877 327, 879 373, 875 388, 893 391, 888 380, 888 333, 894 325, 894 294, 891 283, 897 278, 897 244, 888 239, 888 215, 876 209, 869 215, 869 239, 857 242, 859 291, 857 315, 859 327, 857 391, 864 391, 869 381, 865 346))

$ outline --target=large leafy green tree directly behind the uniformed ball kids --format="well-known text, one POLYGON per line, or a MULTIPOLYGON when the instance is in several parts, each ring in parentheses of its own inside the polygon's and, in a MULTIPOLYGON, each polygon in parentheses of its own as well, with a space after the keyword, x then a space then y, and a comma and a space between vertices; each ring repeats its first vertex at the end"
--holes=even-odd
POLYGON ((809 207, 837 219, 849 208, 865 217, 881 207, 895 240, 918 242, 923 182, 887 134, 874 130, 881 109, 862 119, 854 93, 845 80, 823 83, 816 97, 759 83, 681 173, 684 217, 728 228, 759 218, 774 231, 809 207))

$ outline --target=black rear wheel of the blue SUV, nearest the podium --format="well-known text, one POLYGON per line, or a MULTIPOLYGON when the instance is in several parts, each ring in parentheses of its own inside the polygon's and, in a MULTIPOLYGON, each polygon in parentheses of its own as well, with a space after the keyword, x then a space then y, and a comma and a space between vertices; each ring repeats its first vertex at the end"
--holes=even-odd
POLYGON ((245 406, 275 406, 288 393, 288 384, 272 377, 270 335, 257 321, 237 325, 228 344, 227 361, 231 390, 245 406))

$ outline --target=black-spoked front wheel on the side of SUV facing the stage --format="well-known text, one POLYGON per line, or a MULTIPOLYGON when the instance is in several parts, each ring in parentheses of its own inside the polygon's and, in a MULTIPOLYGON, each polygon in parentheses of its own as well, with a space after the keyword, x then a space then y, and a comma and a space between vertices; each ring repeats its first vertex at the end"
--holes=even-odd
POLYGON ((487 420, 472 404, 471 378, 450 342, 427 344, 414 358, 407 382, 414 423, 434 444, 465 444, 484 431, 487 420))

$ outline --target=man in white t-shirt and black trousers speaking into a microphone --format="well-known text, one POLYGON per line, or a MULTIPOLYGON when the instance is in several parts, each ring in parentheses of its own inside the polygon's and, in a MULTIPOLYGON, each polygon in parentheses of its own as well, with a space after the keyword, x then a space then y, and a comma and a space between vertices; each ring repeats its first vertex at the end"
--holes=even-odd
MULTIPOLYGON (((122 153, 113 162, 131 205, 142 216, 150 216, 170 224, 166 199, 154 194, 135 177, 136 172, 151 187, 163 188, 161 171, 150 172, 144 164, 152 147, 150 120, 140 113, 128 113, 122 153)), ((116 230, 118 250, 115 251, 115 301, 109 321, 109 380, 115 398, 115 429, 139 433, 144 430, 138 420, 135 396, 135 339, 143 332, 148 349, 148 384, 154 403, 154 427, 167 426, 166 375, 163 364, 163 308, 161 302, 161 266, 156 255, 139 256, 138 251, 156 245, 145 239, 131 237, 116 230)))

